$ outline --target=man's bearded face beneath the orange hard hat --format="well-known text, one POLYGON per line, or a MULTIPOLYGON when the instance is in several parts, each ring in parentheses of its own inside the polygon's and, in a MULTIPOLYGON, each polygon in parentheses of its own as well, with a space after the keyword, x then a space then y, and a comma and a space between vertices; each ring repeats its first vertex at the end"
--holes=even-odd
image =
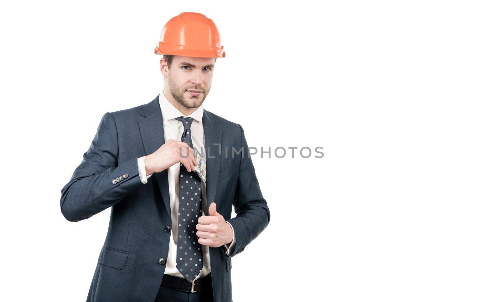
POLYGON ((200 107, 210 91, 214 63, 215 58, 174 56, 170 68, 165 66, 167 88, 172 97, 183 107, 200 107))

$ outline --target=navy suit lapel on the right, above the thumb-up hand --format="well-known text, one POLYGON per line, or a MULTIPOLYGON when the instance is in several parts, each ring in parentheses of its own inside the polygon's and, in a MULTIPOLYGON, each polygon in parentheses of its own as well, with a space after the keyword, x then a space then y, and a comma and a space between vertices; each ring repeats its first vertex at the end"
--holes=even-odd
POLYGON ((205 135, 205 164, 206 164, 206 180, 207 180, 207 210, 216 196, 217 177, 219 175, 219 162, 221 148, 221 129, 215 124, 217 121, 207 111, 203 110, 202 124, 205 135))

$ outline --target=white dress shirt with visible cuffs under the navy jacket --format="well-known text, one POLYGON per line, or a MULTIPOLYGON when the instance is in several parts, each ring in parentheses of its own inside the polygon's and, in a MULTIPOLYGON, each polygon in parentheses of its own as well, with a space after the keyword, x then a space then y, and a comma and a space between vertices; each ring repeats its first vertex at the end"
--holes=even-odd
MULTIPOLYGON (((180 140, 184 131, 184 126, 181 122, 176 120, 176 117, 186 117, 181 111, 179 111, 176 107, 174 107, 163 94, 163 90, 160 92, 160 96, 158 98, 160 102, 160 110, 162 111, 162 121, 163 121, 163 131, 165 142, 169 139, 180 140)), ((193 143, 193 147, 197 148, 200 151, 202 157, 205 159, 205 152, 201 152, 201 150, 205 150, 205 134, 203 132, 202 125, 202 117, 203 117, 203 107, 200 105, 195 111, 193 111, 190 115, 187 115, 193 118, 191 123, 191 141, 193 143), (202 149, 203 147, 203 149, 202 149)), ((146 176, 146 168, 144 165, 144 156, 137 159, 137 166, 139 170, 139 177, 143 184, 148 183, 148 178, 150 175, 146 176)), ((170 236, 170 244, 169 251, 167 253, 167 262, 165 265, 165 273, 169 275, 173 275, 176 277, 183 278, 183 275, 179 272, 176 267, 176 253, 177 253, 177 216, 178 216, 178 202, 179 202, 179 167, 180 164, 177 163, 168 168, 168 179, 169 179, 169 197, 170 197, 170 213, 172 218, 172 226, 171 226, 171 236, 170 236)), ((207 209, 207 199, 206 199, 206 184, 202 183, 202 216, 208 215, 207 209)), ((226 255, 229 255, 231 251, 235 247, 235 232, 233 230, 233 226, 226 221, 227 224, 230 225, 231 230, 233 231, 233 240, 230 243, 224 244, 223 248, 226 250, 226 255)), ((200 273, 195 277, 195 279, 206 276, 210 272, 210 259, 209 259, 209 248, 207 245, 202 245, 203 252, 203 267, 200 273)))

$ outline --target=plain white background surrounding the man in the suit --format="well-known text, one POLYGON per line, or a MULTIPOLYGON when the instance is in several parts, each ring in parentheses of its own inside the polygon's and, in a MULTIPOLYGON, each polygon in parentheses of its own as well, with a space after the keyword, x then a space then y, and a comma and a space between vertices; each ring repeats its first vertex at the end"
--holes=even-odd
POLYGON ((494 1, 185 3, 3 5, 2 300, 87 297, 110 209, 66 221, 61 189, 104 113, 162 89, 181 12, 226 51, 204 108, 325 154, 253 157, 271 221, 233 257, 235 301, 501 299, 494 1))

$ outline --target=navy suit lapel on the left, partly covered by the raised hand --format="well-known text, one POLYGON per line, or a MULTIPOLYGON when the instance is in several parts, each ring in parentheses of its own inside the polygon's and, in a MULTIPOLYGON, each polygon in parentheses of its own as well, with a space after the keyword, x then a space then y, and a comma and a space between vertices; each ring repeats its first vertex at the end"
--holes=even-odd
MULTIPOLYGON (((160 110, 158 96, 144 106, 141 114, 146 118, 139 121, 139 129, 141 130, 141 138, 143 139, 146 155, 150 155, 165 143, 162 110, 160 110)), ((155 177, 157 180, 170 219, 169 178, 167 169, 160 173, 153 173, 151 177, 155 177)))

